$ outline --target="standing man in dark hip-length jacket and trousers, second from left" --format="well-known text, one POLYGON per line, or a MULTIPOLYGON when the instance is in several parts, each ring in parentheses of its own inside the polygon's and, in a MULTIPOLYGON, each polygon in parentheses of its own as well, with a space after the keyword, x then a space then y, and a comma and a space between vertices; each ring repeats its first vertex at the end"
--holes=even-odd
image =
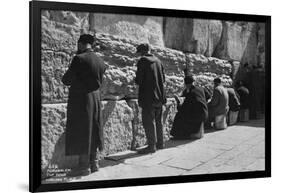
POLYGON ((140 44, 137 54, 136 84, 139 85, 139 106, 142 108, 142 122, 148 147, 138 153, 153 153, 164 148, 162 105, 166 103, 164 91, 164 68, 161 61, 150 53, 148 44, 140 44))

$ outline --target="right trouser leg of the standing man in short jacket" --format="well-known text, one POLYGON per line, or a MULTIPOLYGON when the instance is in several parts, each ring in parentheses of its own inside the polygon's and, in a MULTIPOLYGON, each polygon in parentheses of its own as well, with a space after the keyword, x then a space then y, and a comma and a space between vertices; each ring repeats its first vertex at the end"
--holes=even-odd
POLYGON ((155 108, 155 123, 156 123, 156 136, 157 149, 164 148, 164 138, 163 138, 163 125, 162 125, 162 106, 155 108))

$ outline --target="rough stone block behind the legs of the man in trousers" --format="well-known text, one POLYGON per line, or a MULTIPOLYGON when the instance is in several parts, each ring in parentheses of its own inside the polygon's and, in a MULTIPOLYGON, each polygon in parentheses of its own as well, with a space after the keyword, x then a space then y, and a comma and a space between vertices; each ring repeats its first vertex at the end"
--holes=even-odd
MULTIPOLYGON (((137 100, 128 101, 128 105, 133 109, 134 119, 133 119, 133 141, 131 144, 131 149, 136 149, 138 147, 147 144, 145 131, 142 125, 142 108, 138 106, 137 100)), ((170 139, 170 130, 173 125, 174 117, 176 114, 176 101, 175 99, 169 98, 167 103, 163 106, 162 123, 163 123, 163 133, 164 141, 170 139)))

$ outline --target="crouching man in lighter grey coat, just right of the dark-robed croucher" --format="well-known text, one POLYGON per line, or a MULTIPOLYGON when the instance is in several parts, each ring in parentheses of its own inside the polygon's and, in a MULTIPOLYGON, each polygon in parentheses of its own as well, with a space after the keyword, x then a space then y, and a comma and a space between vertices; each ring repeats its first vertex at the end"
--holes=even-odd
MULTIPOLYGON (((228 100, 229 100, 228 93, 226 88, 224 88, 224 86, 221 84, 221 79, 215 78, 213 96, 211 101, 208 103, 209 127, 211 125, 211 122, 215 122, 217 116, 221 116, 221 115, 226 116, 229 110, 228 100)), ((217 128, 217 129, 222 129, 222 128, 217 128)))

